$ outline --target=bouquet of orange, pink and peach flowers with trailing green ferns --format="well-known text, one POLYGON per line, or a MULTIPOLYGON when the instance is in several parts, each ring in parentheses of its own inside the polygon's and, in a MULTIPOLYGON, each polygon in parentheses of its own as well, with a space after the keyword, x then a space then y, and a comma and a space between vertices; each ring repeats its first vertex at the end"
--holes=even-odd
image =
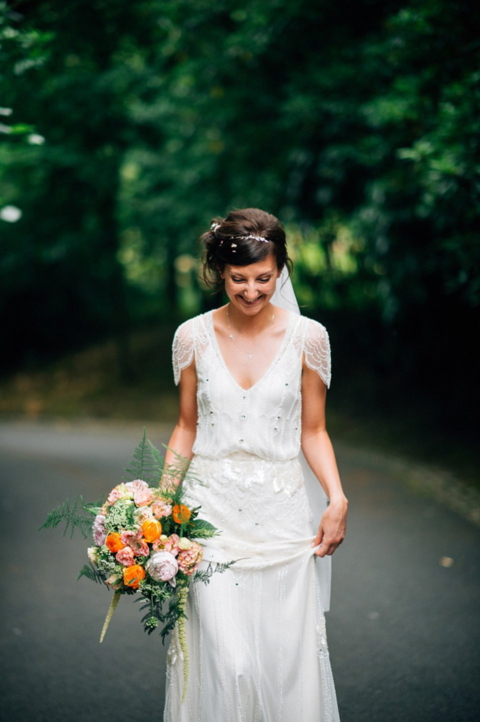
MULTIPOLYGON (((234 562, 211 565, 198 570, 203 547, 198 539, 209 539, 219 531, 198 517, 200 510, 188 508, 178 485, 188 468, 188 460, 175 454, 176 464, 165 467, 164 458, 151 442, 143 438, 126 468, 128 477, 117 484, 105 500, 84 503, 77 497, 73 508, 69 501, 58 506, 40 529, 53 529, 65 522, 64 535, 79 529, 84 539, 92 533, 93 546, 87 549, 89 563, 78 579, 86 577, 105 583, 113 599, 100 635, 102 642, 110 619, 122 594, 135 595, 141 601, 144 630, 151 634, 159 624, 162 641, 178 626, 183 651, 183 697, 188 681, 186 648, 186 599, 190 583, 208 583, 214 572, 227 570, 234 562)), ((201 480, 198 479, 201 483, 201 480)))

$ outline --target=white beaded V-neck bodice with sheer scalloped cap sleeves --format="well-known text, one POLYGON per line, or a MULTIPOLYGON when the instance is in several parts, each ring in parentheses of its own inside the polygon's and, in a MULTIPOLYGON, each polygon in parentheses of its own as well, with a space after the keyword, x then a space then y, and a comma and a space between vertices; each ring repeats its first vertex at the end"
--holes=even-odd
POLYGON ((326 329, 306 316, 289 313, 276 357, 245 390, 223 360, 212 313, 182 323, 173 339, 175 383, 195 357, 198 422, 193 453, 222 458, 246 451, 266 461, 295 458, 300 452, 302 358, 330 385, 326 329))

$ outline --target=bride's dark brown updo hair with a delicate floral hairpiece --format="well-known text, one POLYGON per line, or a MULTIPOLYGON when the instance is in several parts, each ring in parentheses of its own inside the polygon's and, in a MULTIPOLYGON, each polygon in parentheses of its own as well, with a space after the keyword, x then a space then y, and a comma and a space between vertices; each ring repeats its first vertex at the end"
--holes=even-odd
POLYGON ((204 247, 203 275, 206 284, 220 287, 226 264, 250 266, 271 254, 279 271, 292 261, 282 223, 258 208, 231 211, 225 218, 214 218, 208 232, 198 239, 204 247))

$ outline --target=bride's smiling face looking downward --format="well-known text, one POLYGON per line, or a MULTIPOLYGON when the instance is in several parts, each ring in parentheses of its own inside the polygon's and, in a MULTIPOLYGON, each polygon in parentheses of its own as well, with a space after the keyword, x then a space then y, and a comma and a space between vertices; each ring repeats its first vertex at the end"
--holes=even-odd
POLYGON ((250 266, 227 264, 222 279, 230 303, 242 313, 255 316, 274 295, 279 275, 274 256, 268 256, 250 266))

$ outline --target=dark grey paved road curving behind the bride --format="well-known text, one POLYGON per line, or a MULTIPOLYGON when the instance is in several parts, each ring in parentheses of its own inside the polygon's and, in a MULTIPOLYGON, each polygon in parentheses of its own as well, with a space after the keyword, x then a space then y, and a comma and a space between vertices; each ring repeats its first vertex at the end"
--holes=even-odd
MULTIPOLYGON (((157 445, 168 436, 147 431, 157 445)), ((100 646, 110 593, 77 583, 82 539, 36 531, 64 498, 113 487, 140 435, 0 425, 1 720, 162 718, 160 638, 123 598, 100 646)), ((341 446, 337 456, 351 510, 327 625, 342 722, 476 721, 480 529, 411 490, 388 460, 341 446)))

